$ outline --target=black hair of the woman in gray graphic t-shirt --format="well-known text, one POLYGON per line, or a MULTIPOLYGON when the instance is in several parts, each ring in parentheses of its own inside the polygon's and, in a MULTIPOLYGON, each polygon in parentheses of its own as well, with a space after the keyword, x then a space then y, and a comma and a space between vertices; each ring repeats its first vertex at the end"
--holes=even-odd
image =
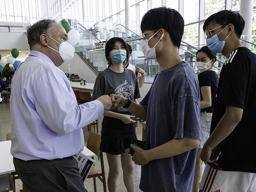
POLYGON ((110 67, 112 65, 112 60, 111 58, 109 58, 109 53, 112 51, 113 47, 115 46, 116 42, 120 42, 124 49, 126 50, 126 63, 128 63, 129 60, 129 49, 127 47, 127 44, 125 43, 125 41, 119 37, 112 37, 111 39, 109 39, 106 43, 106 47, 105 47, 105 56, 106 59, 108 61, 108 67, 110 67))

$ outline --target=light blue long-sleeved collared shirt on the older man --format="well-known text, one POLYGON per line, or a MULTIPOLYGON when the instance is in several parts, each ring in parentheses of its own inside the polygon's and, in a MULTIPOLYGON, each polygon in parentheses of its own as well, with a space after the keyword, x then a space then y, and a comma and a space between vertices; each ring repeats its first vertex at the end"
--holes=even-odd
POLYGON ((37 51, 17 68, 11 92, 11 154, 25 161, 80 153, 81 128, 104 113, 99 100, 78 105, 65 74, 37 51))

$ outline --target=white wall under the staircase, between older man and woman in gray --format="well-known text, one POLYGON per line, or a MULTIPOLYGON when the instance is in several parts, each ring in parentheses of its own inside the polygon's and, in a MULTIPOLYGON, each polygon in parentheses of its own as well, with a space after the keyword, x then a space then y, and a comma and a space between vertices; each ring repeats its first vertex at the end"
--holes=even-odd
MULTIPOLYGON (((68 73, 68 62, 64 62, 59 68, 64 73, 68 73)), ((97 77, 76 53, 74 58, 70 60, 70 72, 76 73, 80 78, 84 78, 87 83, 94 83, 97 77)))

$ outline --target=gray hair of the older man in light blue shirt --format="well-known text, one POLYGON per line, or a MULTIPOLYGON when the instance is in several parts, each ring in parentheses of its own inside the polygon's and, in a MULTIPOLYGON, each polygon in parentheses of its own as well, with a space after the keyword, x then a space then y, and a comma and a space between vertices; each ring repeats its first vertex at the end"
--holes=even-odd
POLYGON ((37 21, 27 29, 28 44, 30 50, 33 50, 36 44, 40 44, 40 35, 51 35, 52 24, 58 23, 56 20, 44 19, 37 21))

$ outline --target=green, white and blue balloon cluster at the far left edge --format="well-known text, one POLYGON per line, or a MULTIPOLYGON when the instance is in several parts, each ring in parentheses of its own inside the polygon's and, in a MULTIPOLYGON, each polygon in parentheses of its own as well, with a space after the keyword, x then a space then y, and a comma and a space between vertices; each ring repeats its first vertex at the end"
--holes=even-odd
POLYGON ((7 62, 9 62, 9 67, 11 68, 11 70, 14 71, 14 68, 18 68, 20 65, 20 61, 15 59, 19 56, 19 50, 14 48, 11 51, 12 55, 9 55, 7 57, 7 60, 5 58, 2 58, 2 55, 0 54, 0 72, 2 72, 4 70, 5 65, 7 64, 7 62))

